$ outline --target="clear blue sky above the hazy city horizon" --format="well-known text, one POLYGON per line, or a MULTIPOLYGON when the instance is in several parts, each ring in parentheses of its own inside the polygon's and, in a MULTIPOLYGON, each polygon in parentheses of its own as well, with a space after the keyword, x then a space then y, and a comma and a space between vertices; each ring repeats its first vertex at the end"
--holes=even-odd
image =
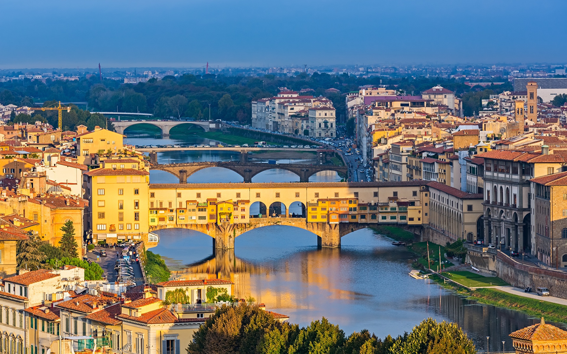
POLYGON ((564 63, 564 1, 4 0, 0 69, 564 63))

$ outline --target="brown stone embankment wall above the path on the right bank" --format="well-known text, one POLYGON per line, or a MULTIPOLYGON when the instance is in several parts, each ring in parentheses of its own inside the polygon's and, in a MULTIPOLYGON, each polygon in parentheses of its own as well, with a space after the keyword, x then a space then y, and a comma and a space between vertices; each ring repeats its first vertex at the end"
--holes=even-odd
POLYGON ((567 298, 567 272, 531 266, 496 249, 467 245, 466 262, 513 287, 545 287, 552 296, 567 298))

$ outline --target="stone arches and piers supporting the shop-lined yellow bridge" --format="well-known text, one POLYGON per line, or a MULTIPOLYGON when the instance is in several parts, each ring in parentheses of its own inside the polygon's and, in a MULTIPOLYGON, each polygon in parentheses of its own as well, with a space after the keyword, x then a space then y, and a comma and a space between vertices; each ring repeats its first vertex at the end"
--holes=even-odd
MULTIPOLYGON (((341 237, 345 234, 367 227, 362 223, 309 223, 303 217, 256 217, 248 224, 208 223, 179 224, 180 228, 199 231, 213 237, 213 249, 234 249, 234 239, 244 232, 271 225, 287 225, 302 228, 317 235, 319 247, 335 248, 341 246, 341 237)), ((150 231, 168 228, 167 225, 150 226, 150 231)))

